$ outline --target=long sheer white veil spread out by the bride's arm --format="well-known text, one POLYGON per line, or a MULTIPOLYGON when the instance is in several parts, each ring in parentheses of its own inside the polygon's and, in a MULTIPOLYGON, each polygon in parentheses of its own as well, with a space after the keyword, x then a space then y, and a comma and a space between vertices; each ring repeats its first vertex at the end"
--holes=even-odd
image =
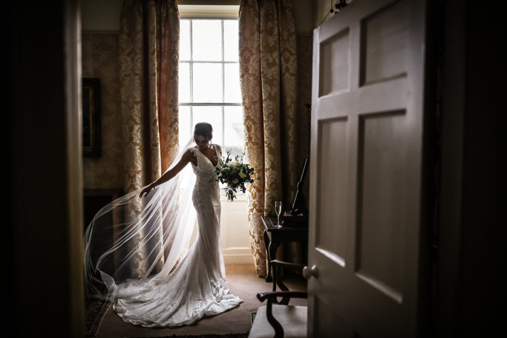
MULTIPOLYGON (((178 163, 192 141, 193 137, 167 170, 178 163)), ((139 198, 141 187, 97 212, 84 236, 89 296, 114 299, 120 288, 140 293, 167 278, 189 247, 196 222, 194 183, 195 175, 186 166, 146 198, 139 198)))

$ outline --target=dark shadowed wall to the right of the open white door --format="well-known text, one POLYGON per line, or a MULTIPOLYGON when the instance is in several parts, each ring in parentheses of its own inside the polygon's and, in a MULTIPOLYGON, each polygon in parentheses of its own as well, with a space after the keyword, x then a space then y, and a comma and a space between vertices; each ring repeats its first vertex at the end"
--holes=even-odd
POLYGON ((501 329, 505 312, 505 19, 497 2, 440 4, 446 30, 438 335, 489 336, 501 329))

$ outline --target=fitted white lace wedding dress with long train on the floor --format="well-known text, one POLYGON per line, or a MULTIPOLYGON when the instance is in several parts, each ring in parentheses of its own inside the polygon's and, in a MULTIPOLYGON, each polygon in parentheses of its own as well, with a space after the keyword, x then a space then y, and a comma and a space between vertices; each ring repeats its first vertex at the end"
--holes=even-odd
MULTIPOLYGON (((217 156, 222 156, 220 147, 214 148, 217 156)), ((195 173, 192 202, 199 233, 188 253, 181 255, 179 263, 167 263, 169 266, 161 273, 119 284, 108 284, 112 277, 98 269, 114 298, 114 310, 126 322, 146 327, 191 325, 204 316, 223 313, 242 303, 242 299, 229 293, 225 281, 219 187, 210 179, 215 167, 198 149, 189 149, 197 159, 197 166, 187 166, 195 173), (164 272, 167 268, 171 271, 164 272)), ((172 239, 176 240, 177 237, 172 239)))

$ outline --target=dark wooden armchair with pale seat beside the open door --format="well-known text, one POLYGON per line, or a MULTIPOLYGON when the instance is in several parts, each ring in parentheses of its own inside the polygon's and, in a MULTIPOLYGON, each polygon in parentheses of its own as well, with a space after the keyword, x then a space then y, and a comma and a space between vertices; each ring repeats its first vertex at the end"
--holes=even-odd
POLYGON ((288 305, 291 298, 306 298, 307 292, 289 291, 282 282, 281 269, 304 268, 301 264, 293 264, 280 260, 272 260, 273 291, 257 294, 259 301, 268 301, 267 305, 257 310, 248 338, 281 338, 306 337, 307 307, 288 305), (281 291, 276 291, 276 285, 281 291), (281 297, 278 302, 277 297, 281 297))

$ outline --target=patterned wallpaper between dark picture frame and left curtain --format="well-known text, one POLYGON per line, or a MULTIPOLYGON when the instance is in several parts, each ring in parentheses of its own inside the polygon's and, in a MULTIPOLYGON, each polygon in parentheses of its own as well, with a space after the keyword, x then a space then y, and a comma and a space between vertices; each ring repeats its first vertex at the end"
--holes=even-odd
POLYGON ((82 34, 82 77, 100 79, 102 156, 83 158, 85 189, 123 187, 118 34, 82 34))

